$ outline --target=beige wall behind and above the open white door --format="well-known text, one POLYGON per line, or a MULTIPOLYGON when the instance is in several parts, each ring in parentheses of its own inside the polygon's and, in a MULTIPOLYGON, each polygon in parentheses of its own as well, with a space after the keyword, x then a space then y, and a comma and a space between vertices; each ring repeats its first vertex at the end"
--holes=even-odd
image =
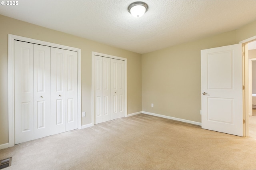
POLYGON ((142 54, 142 111, 201 122, 200 50, 232 45, 253 36, 256 22, 142 54))

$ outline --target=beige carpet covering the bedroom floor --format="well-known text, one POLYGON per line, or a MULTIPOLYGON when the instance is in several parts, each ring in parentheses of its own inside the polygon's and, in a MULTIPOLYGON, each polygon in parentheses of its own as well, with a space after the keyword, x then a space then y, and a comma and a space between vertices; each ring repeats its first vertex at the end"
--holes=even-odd
POLYGON ((6 169, 253 170, 256 139, 139 114, 0 150, 6 169))

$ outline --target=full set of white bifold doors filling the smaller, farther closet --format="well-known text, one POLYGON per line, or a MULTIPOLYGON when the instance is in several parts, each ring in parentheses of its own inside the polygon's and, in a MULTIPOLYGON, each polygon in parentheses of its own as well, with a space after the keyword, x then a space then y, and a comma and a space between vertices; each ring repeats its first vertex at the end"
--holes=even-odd
POLYGON ((95 124, 124 117, 124 61, 94 55, 95 124))

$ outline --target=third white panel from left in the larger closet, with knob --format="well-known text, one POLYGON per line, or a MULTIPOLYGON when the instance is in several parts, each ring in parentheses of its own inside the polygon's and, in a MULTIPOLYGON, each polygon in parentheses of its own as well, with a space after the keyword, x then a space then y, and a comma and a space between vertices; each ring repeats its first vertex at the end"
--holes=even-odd
POLYGON ((52 134, 65 132, 65 50, 51 47, 52 134))

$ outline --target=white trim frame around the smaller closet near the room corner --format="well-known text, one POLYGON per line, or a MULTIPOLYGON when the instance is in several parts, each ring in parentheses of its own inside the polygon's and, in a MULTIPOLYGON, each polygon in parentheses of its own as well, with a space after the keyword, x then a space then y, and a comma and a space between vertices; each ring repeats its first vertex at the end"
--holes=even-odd
POLYGON ((124 117, 127 117, 127 59, 122 57, 117 57, 114 55, 108 55, 103 53, 98 53, 92 51, 92 126, 95 125, 95 103, 94 103, 94 81, 95 81, 95 63, 94 63, 94 55, 98 55, 101 57, 108 57, 112 59, 119 59, 124 61, 124 117))

